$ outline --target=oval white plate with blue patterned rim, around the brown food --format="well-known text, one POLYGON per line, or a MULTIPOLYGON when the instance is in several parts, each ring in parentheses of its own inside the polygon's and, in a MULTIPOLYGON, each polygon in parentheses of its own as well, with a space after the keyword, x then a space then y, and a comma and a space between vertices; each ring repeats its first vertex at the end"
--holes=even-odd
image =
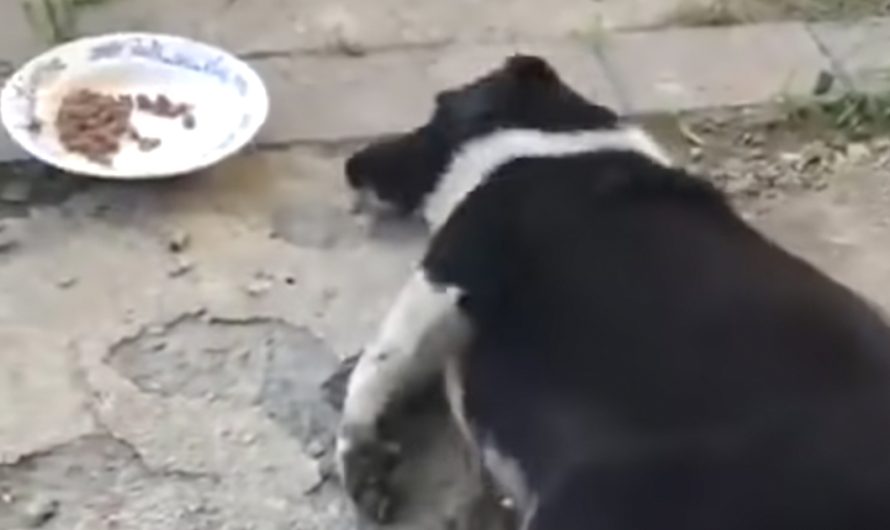
POLYGON ((36 158, 58 168, 105 178, 160 178, 205 168, 235 153, 257 133, 269 96, 247 64, 222 50, 181 37, 120 33, 89 37, 30 61, 0 93, 3 126, 36 158), (68 93, 164 94, 193 106, 196 126, 134 111, 142 136, 161 139, 143 152, 125 141, 111 166, 65 150, 55 116, 68 93), (33 124, 39 124, 34 127, 33 124))

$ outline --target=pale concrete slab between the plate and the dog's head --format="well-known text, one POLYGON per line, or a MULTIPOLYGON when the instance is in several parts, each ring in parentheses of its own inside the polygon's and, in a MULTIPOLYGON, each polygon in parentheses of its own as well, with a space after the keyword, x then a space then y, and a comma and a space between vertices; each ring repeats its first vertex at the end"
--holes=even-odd
POLYGON ((582 94, 620 108, 593 47, 580 41, 454 45, 365 57, 292 56, 253 63, 273 101, 260 142, 336 141, 410 130, 429 116, 436 93, 521 52, 546 57, 582 94))

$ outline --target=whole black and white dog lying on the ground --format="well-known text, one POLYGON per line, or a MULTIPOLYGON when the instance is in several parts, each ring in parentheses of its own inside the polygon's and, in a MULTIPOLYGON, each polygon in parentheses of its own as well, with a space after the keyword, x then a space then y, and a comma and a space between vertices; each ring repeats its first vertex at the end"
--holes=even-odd
POLYGON ((349 384, 364 510, 388 506, 381 420, 444 372, 521 528, 890 529, 883 319, 544 60, 441 94, 347 173, 435 231, 349 384))

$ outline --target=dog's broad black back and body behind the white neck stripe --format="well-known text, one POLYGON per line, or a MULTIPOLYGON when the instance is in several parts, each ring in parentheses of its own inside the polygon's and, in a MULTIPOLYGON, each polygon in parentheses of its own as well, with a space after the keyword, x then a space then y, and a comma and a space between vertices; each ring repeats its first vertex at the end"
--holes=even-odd
POLYGON ((890 528, 890 332, 708 185, 519 160, 425 266, 464 291, 466 414, 534 484, 532 528, 890 528))

